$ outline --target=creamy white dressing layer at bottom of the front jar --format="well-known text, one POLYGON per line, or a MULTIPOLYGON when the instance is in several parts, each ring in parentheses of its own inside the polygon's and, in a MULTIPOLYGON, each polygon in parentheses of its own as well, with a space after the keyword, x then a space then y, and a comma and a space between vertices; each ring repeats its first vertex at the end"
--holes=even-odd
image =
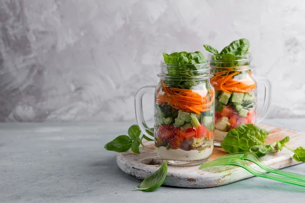
POLYGON ((181 149, 169 149, 166 147, 156 147, 157 155, 162 160, 174 161, 196 161, 209 157, 213 151, 213 145, 202 151, 190 150, 184 151, 181 149))

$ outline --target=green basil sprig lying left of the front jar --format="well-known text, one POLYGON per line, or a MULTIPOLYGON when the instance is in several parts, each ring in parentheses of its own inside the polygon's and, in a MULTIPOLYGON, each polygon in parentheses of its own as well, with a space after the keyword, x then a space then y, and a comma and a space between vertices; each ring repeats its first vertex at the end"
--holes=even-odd
MULTIPOLYGON (((151 128, 154 130, 154 128, 151 128)), ((148 130, 147 130, 148 131, 148 130)), ((149 131, 149 134, 151 136, 154 136, 153 133, 149 131)), ((104 148, 108 151, 114 151, 114 152, 126 152, 131 149, 132 152, 139 154, 139 146, 143 145, 142 139, 144 138, 147 141, 154 141, 150 138, 147 138, 144 134, 142 135, 142 138, 140 139, 141 130, 138 125, 132 125, 128 129, 128 136, 122 135, 115 138, 113 141, 107 143, 104 148)))

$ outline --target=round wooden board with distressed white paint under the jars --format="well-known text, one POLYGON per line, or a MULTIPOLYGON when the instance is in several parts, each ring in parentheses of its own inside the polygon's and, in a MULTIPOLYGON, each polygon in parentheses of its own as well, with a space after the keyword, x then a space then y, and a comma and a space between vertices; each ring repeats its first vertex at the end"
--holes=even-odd
MULTIPOLYGON (((298 146, 305 146, 304 132, 267 124, 260 124, 260 127, 270 131, 268 139, 277 138, 277 140, 279 140, 279 138, 289 136, 289 146, 291 148, 295 149, 298 146)), ((132 152, 118 153, 116 156, 117 165, 125 173, 138 179, 145 179, 154 173, 161 165, 161 160, 157 157, 154 145, 154 142, 145 142, 145 148, 141 148, 140 154, 132 152), (145 164, 147 160, 151 159, 156 160, 155 162, 157 164, 145 164)), ((292 159, 292 156, 293 153, 291 151, 284 149, 279 153, 269 153, 265 157, 262 157, 261 160, 263 163, 273 168, 283 168, 301 163, 292 159)), ((251 165, 255 170, 263 172, 257 165, 251 165)), ((164 185, 188 188, 216 187, 252 176, 253 175, 243 168, 235 166, 215 166, 199 170, 199 165, 188 167, 168 165, 168 173, 164 185)))

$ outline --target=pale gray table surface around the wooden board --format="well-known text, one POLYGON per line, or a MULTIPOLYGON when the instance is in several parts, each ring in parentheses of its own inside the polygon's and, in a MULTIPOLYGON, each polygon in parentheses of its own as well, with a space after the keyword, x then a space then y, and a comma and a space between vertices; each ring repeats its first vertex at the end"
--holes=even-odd
MULTIPOLYGON (((305 119, 264 123, 305 131, 305 119)), ((185 189, 133 189, 104 145, 131 122, 0 123, 0 202, 304 202, 305 188, 262 178, 185 189)), ((305 164, 285 168, 305 174, 305 164)))

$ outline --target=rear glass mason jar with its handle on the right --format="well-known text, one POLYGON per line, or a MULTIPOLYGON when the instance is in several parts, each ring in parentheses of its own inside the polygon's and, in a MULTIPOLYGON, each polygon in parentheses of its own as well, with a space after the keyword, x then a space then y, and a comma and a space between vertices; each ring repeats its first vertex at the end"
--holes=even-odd
POLYGON ((215 98, 215 145, 220 146, 227 132, 240 124, 256 124, 268 112, 271 83, 263 76, 253 75, 252 54, 241 56, 208 55, 212 73, 211 84, 216 90, 215 98), (264 85, 264 99, 261 112, 257 107, 257 82, 264 85))

